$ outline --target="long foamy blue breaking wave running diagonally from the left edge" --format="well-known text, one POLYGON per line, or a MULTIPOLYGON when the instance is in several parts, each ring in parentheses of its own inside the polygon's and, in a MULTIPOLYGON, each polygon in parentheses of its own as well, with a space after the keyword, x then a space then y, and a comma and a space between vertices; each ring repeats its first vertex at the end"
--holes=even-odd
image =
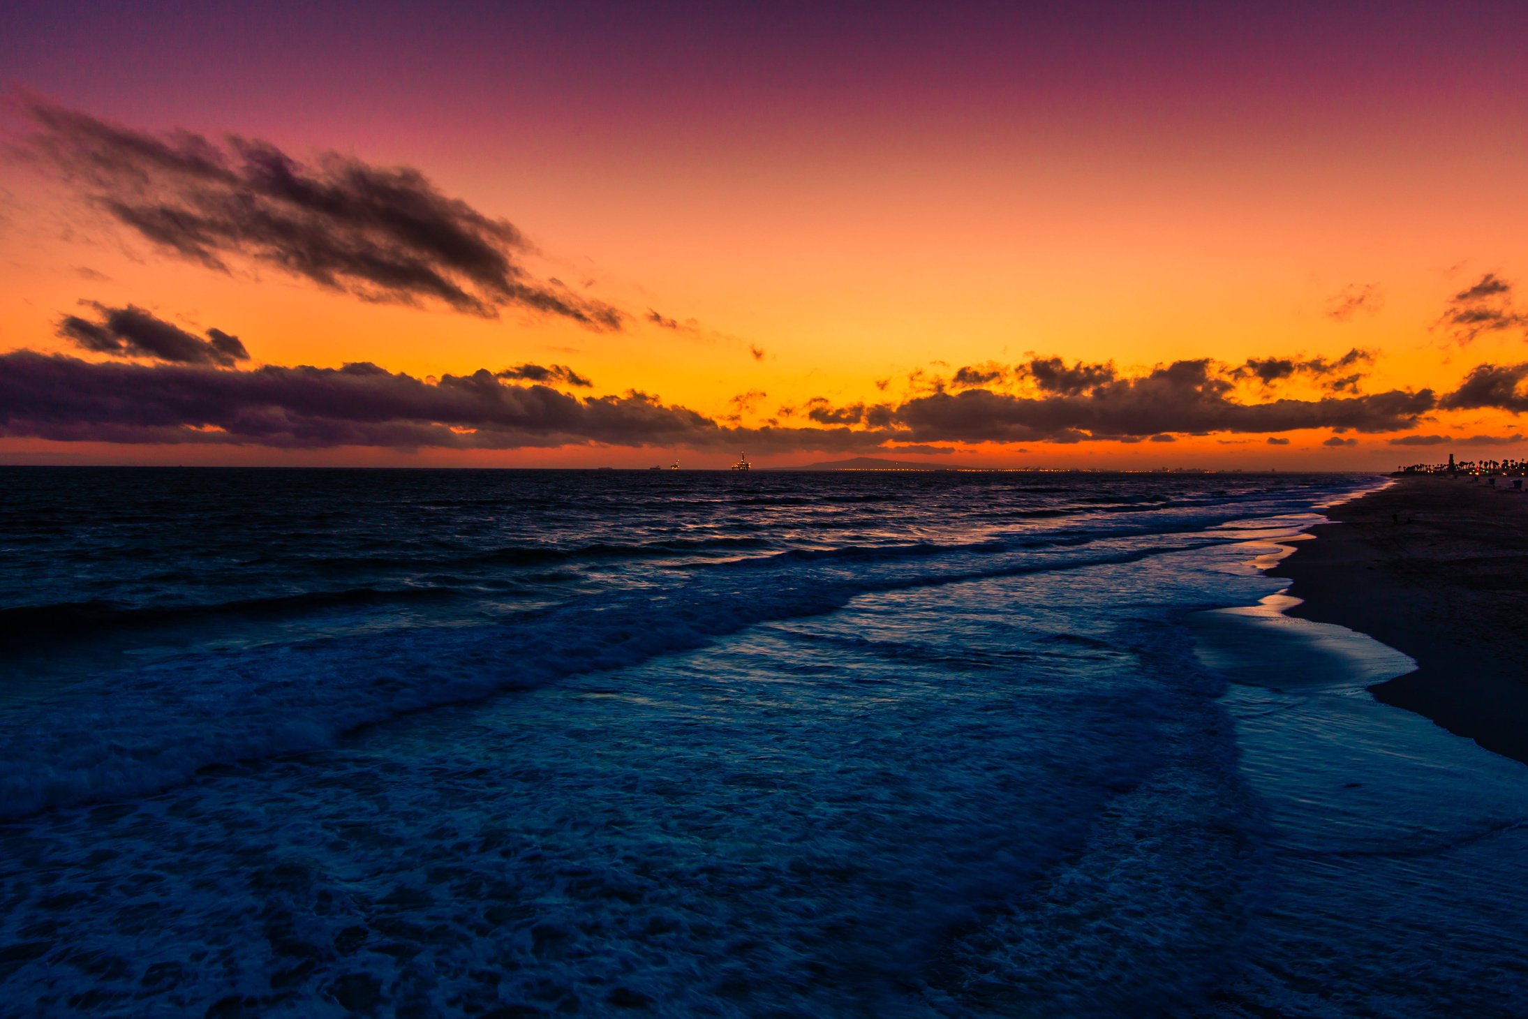
POLYGON ((775 556, 762 564, 776 568, 753 567, 753 584, 740 585, 729 568, 677 590, 593 594, 503 623, 333 636, 237 655, 194 652, 113 674, 112 686, 75 698, 67 712, 21 709, 0 720, 0 746, 8 747, 0 819, 150 794, 212 764, 318 750, 361 726, 633 666, 756 623, 831 613, 857 594, 1128 564, 1224 541, 989 555, 964 570, 934 562, 880 574, 863 564, 824 573, 804 568, 811 559, 799 555, 775 556))

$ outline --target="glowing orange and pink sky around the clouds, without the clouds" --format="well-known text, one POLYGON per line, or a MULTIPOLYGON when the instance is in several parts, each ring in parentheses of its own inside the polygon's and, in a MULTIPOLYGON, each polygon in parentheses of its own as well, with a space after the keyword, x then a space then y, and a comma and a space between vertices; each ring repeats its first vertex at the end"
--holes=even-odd
MULTIPOLYGON (((86 18, 86 49, 104 47, 110 27, 86 18)), ((151 18, 138 27, 142 47, 167 44, 148 32, 151 18)), ((1427 29, 1394 31, 1418 44, 1427 29)), ((60 31, 38 17, 5 55, 60 31)), ((8 63, 18 81, 6 133, 26 144, 35 124, 23 105, 41 96, 156 134, 235 133, 299 160, 338 150, 376 167, 414 167, 442 194, 512 222, 535 244, 524 266, 536 280, 620 309, 623 328, 596 332, 512 304, 490 319, 431 299, 368 302, 238 252, 217 272, 145 238, 58 167, 12 153, 0 191, 0 353, 101 361, 61 338, 58 322, 81 313, 81 301, 131 304, 193 333, 237 335, 252 365, 367 361, 425 377, 565 364, 593 379, 591 394, 639 390, 718 420, 736 412, 733 396, 767 393, 743 416, 746 426, 790 423, 779 409, 811 397, 897 403, 914 393, 909 373, 949 377, 1033 354, 1135 374, 1177 359, 1335 359, 1357 347, 1375 354, 1361 393, 1444 393, 1478 364, 1525 359, 1520 324, 1468 344, 1439 325, 1450 298, 1485 273, 1514 284, 1528 272, 1528 124, 1520 104, 1504 102, 1513 82, 1488 61, 1471 72, 1462 49, 1444 47, 1406 75, 1377 43, 1325 78, 1311 70, 1326 67, 1322 53, 1299 43, 1284 63, 1248 50, 1245 73, 1235 60, 1192 73, 1170 53, 1161 64, 1135 53, 1099 84, 1089 75, 1117 55, 1103 46, 1077 53, 1076 66, 1057 64, 1059 81, 1047 86, 1005 75, 976 35, 953 35, 944 58, 929 57, 900 81, 894 64, 866 50, 807 95, 772 70, 778 53, 761 43, 741 57, 743 81, 704 61, 688 76, 636 67, 630 89, 541 67, 538 96, 506 81, 495 104, 481 92, 461 98, 494 73, 474 61, 460 79, 440 67, 420 72, 419 87, 400 96, 365 57, 406 43, 388 35, 397 24, 374 31, 313 72, 306 87, 315 102, 284 108, 254 93, 171 89, 196 78, 189 63, 150 75, 124 52, 125 84, 112 89, 104 72, 70 81, 18 58, 8 63), (949 79, 963 44, 981 67, 949 79), (715 102, 704 90, 714 81, 715 102), (382 108, 345 116, 353 95, 368 90, 382 108), (1355 287, 1369 287, 1369 299, 1337 321, 1334 301, 1355 287), (662 328, 643 319, 649 309, 694 324, 662 328)), ((1508 290, 1493 307, 1511 315, 1514 298, 1508 290)), ((1033 394, 1022 382, 1010 390, 1033 394)), ((1235 399, 1277 396, 1316 399, 1319 380, 1244 385, 1235 399)), ((1473 409, 1435 411, 1404 432, 1507 437, 1520 428, 1508 411, 1473 409)), ((995 466, 1390 469, 1444 449, 1525 452, 1389 445, 1403 432, 1323 446, 1332 434, 1291 431, 1287 446, 1261 434, 944 445, 961 463, 995 466)), ((646 466, 671 457, 730 460, 718 449, 610 443, 410 451, 0 437, 6 461, 646 466)), ((825 457, 801 449, 770 458, 825 457)))

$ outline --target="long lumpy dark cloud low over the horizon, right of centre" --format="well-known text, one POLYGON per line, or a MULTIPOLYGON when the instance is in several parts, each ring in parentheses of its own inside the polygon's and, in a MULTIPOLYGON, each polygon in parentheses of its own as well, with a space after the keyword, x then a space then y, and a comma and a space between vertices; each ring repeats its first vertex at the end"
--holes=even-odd
POLYGON ((1053 385, 1062 393, 1041 399, 989 390, 935 393, 906 400, 897 419, 920 442, 1079 442, 1160 432, 1403 431, 1436 405, 1432 390, 1238 403, 1230 397, 1233 383, 1209 361, 1178 361, 1141 377, 1091 385, 1071 371, 1053 385))

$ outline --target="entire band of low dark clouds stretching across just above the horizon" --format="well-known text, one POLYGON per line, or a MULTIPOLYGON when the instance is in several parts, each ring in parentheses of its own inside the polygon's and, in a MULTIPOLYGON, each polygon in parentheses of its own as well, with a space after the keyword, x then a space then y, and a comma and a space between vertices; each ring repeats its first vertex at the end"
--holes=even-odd
MULTIPOLYGON (((1172 362, 1105 382, 1093 373, 1091 387, 1079 382, 1088 373, 1074 368, 1065 368, 1071 380, 1054 383, 1080 390, 1071 394, 964 390, 895 405, 843 406, 814 397, 795 411, 801 428, 743 428, 736 416, 717 420, 639 391, 594 397, 547 385, 587 382, 565 365, 520 365, 434 380, 371 364, 229 370, 206 362, 92 364, 20 350, 0 354, 0 434, 277 448, 513 449, 593 443, 746 448, 764 454, 868 451, 885 443, 1167 443, 1186 434, 1267 435, 1317 428, 1395 432, 1415 428, 1438 406, 1430 390, 1242 403, 1235 385, 1209 361, 1172 362)), ((1504 370, 1479 370, 1482 377, 1493 371, 1504 370)), ((1528 365, 1505 371, 1522 376, 1528 365)), ((1468 402, 1459 396, 1468 391, 1467 382, 1449 399, 1468 402)), ((764 399, 762 391, 752 390, 732 403, 741 411, 764 399)), ((790 412, 781 408, 781 417, 790 412)))

